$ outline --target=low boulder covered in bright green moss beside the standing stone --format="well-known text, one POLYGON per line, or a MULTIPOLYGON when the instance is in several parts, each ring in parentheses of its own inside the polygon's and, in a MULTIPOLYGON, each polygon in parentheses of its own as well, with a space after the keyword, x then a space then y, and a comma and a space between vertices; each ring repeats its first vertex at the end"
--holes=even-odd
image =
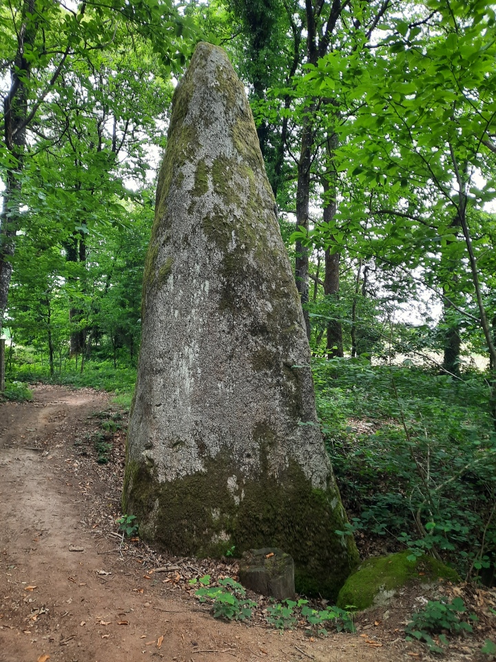
POLYGON ((374 556, 364 561, 351 574, 338 596, 338 607, 353 605, 358 611, 391 598, 397 589, 412 579, 428 583, 437 579, 459 581, 452 568, 436 561, 432 556, 420 556, 415 561, 407 558, 410 552, 389 556, 374 556))

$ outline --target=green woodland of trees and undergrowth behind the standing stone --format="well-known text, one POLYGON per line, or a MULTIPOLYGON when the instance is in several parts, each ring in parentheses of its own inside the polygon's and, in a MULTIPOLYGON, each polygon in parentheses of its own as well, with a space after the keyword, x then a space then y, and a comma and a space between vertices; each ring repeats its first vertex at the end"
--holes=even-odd
POLYGON ((415 549, 454 545, 469 574, 488 565, 495 35, 483 0, 3 3, 8 379, 132 388, 174 84, 198 41, 216 43, 254 112, 329 452, 353 474, 344 498, 355 526, 397 538, 412 519, 415 549), (360 417, 386 428, 350 450, 360 417), (403 464, 393 467, 395 443, 403 464), (417 488, 388 491, 391 472, 417 488), (372 510, 365 479, 382 494, 372 510))

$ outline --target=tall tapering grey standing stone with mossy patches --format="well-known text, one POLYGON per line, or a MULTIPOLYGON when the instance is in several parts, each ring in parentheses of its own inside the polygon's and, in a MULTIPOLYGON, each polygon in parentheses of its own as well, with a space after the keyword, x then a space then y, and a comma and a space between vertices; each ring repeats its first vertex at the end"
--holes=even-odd
POLYGON ((310 349, 249 104, 198 44, 174 93, 143 278, 124 512, 174 554, 282 548, 296 589, 358 563, 316 417, 310 349))

